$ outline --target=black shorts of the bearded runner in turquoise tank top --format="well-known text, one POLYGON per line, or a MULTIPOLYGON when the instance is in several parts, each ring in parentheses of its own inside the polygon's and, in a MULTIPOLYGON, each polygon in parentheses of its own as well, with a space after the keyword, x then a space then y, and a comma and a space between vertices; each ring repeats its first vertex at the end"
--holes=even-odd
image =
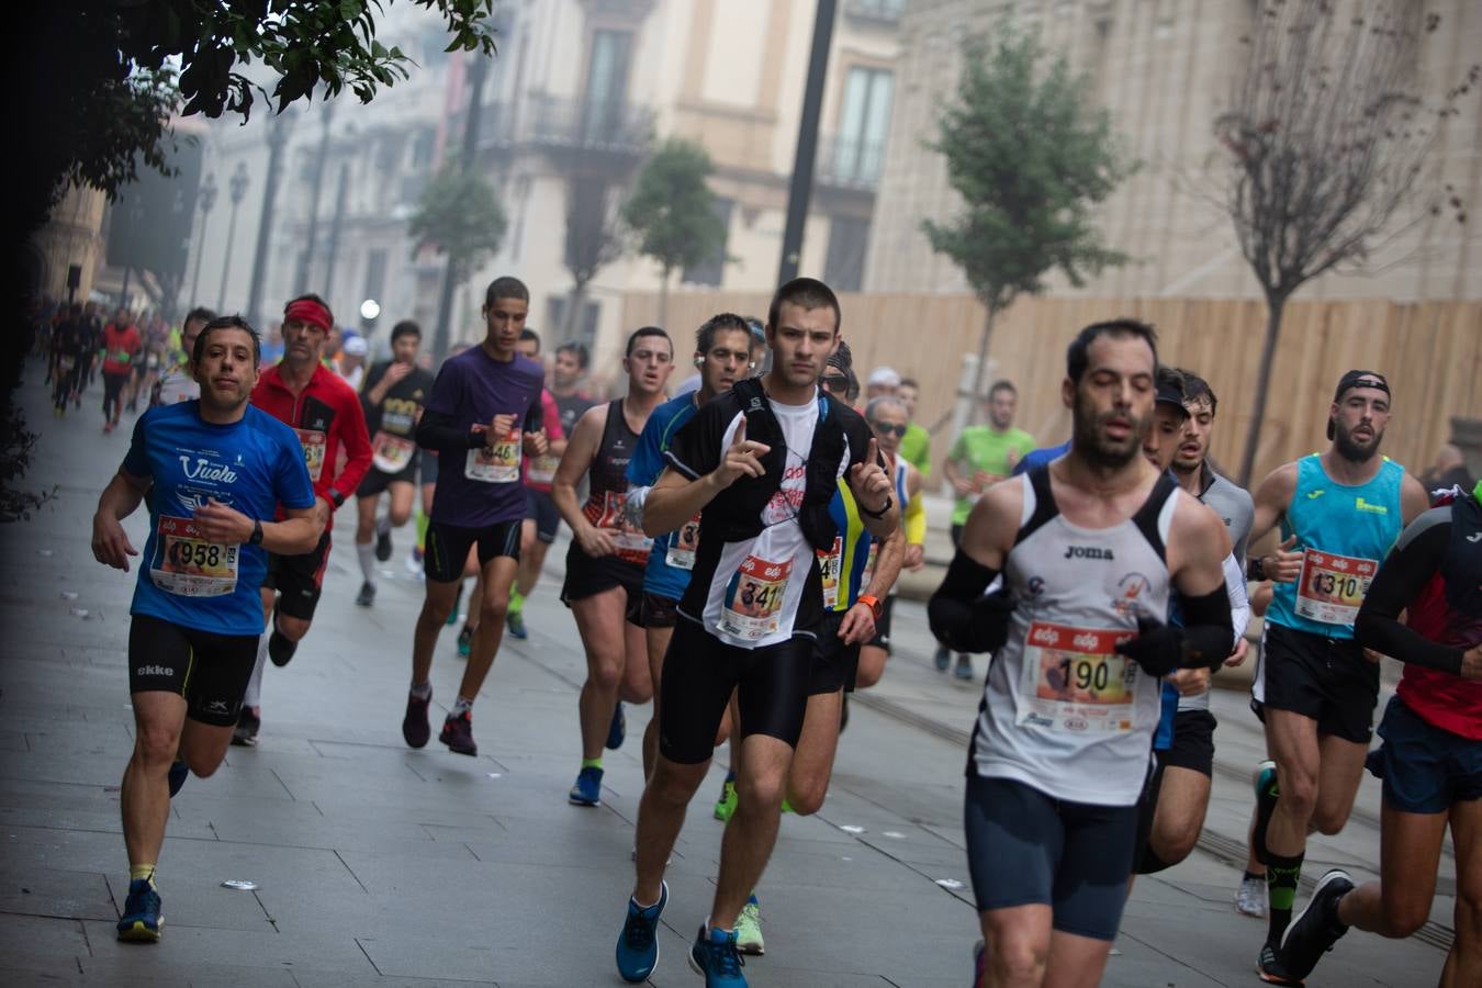
POLYGON ((1369 744, 1380 667, 1353 638, 1326 638, 1266 622, 1261 650, 1266 707, 1317 721, 1317 733, 1369 744))

